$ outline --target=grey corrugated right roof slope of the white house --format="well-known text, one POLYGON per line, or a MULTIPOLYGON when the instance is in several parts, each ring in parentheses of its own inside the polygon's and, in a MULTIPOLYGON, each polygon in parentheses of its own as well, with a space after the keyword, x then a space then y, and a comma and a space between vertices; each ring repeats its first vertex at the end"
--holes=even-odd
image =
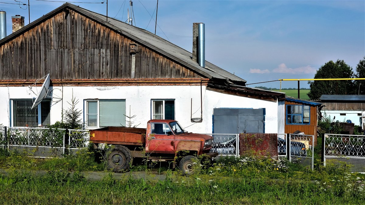
MULTIPOLYGON (((67 3, 66 3, 67 4, 67 3)), ((157 50, 161 53, 167 53, 169 54, 169 57, 179 59, 180 61, 185 62, 189 65, 193 70, 206 75, 207 77, 213 77, 213 78, 219 78, 224 80, 231 80, 231 81, 239 81, 239 82, 246 82, 240 77, 237 77, 233 75, 232 73, 229 73, 226 70, 223 70, 222 68, 205 61, 205 67, 199 66, 199 64, 192 60, 192 53, 190 53, 187 50, 182 49, 181 47, 178 47, 177 45, 174 45, 173 43, 161 38, 160 36, 157 36, 155 34, 152 34, 149 31, 146 31, 142 28, 138 28, 135 26, 131 26, 130 24, 124 23, 118 19, 113 19, 108 17, 108 23, 106 22, 106 16, 101 15, 100 13, 95 13, 92 11, 89 11, 87 9, 77 7, 76 5, 69 4, 70 7, 73 9, 80 11, 81 13, 84 13, 85 15, 97 19, 100 21, 100 23, 104 24, 105 26, 111 26, 115 30, 120 30, 120 32, 124 35, 131 35, 135 41, 151 47, 151 49, 157 50), (207 75, 208 74, 208 75, 207 75)))

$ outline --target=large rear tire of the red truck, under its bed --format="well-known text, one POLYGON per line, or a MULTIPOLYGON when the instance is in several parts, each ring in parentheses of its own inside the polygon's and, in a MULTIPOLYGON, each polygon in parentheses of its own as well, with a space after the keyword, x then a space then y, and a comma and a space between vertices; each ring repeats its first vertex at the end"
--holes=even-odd
POLYGON ((133 157, 130 150, 127 147, 117 145, 105 152, 105 159, 107 160, 107 166, 114 172, 120 172, 129 169, 130 164, 133 162, 133 157))

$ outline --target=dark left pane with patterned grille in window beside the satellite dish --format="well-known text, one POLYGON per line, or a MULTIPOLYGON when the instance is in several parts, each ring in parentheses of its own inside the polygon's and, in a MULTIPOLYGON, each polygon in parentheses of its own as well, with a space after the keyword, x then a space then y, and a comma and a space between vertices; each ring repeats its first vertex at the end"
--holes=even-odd
POLYGON ((32 100, 13 100, 14 126, 38 126, 38 106, 31 109, 32 105, 32 100))

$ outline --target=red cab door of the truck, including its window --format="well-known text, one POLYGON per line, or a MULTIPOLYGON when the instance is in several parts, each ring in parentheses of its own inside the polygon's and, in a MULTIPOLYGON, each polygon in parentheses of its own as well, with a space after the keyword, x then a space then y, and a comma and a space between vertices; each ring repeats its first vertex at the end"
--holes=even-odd
POLYGON ((151 123, 147 130, 146 151, 151 153, 174 153, 175 135, 166 123, 151 123))

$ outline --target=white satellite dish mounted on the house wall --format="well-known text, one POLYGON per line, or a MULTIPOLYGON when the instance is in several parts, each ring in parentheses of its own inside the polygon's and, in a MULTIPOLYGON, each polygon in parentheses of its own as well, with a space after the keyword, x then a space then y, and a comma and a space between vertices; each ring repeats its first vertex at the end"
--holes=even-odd
MULTIPOLYGON (((45 78, 45 81, 43 82, 43 84, 42 84, 42 86, 41 86, 41 90, 38 92, 38 94, 36 94, 37 95, 37 97, 35 98, 35 100, 34 100, 34 102, 33 102, 33 105, 32 105, 32 108, 31 109, 33 109, 33 108, 35 108, 35 107, 37 107, 38 105, 39 105, 39 103, 41 103, 46 97, 50 97, 50 98, 52 98, 52 100, 53 99, 57 99, 57 101, 54 101, 54 102, 59 102, 59 101, 61 101, 62 100, 62 98, 61 97, 59 97, 59 96, 57 96, 56 94, 54 94, 53 93, 53 90, 54 89, 52 89, 52 90, 49 90, 49 83, 50 83, 50 77, 49 77, 49 74, 47 74, 47 76, 45 76, 45 77, 43 77, 43 78, 45 78), (51 94, 51 95, 47 95, 47 94, 51 94)), ((43 78, 41 78, 41 79, 43 79, 43 78)), ((39 80, 41 80, 41 79, 39 79, 39 80)), ((39 81, 39 80, 37 80, 33 85, 37 85, 37 82, 39 81)), ((31 86, 29 86, 29 89, 33 92, 33 90, 32 90, 32 86, 33 85, 31 85, 31 86)), ((37 87, 36 87, 37 88, 37 87)), ((58 89, 59 90, 59 89, 58 89)), ((34 92, 33 92, 34 93, 34 92)), ((34 93, 35 94, 35 93, 34 93)))

